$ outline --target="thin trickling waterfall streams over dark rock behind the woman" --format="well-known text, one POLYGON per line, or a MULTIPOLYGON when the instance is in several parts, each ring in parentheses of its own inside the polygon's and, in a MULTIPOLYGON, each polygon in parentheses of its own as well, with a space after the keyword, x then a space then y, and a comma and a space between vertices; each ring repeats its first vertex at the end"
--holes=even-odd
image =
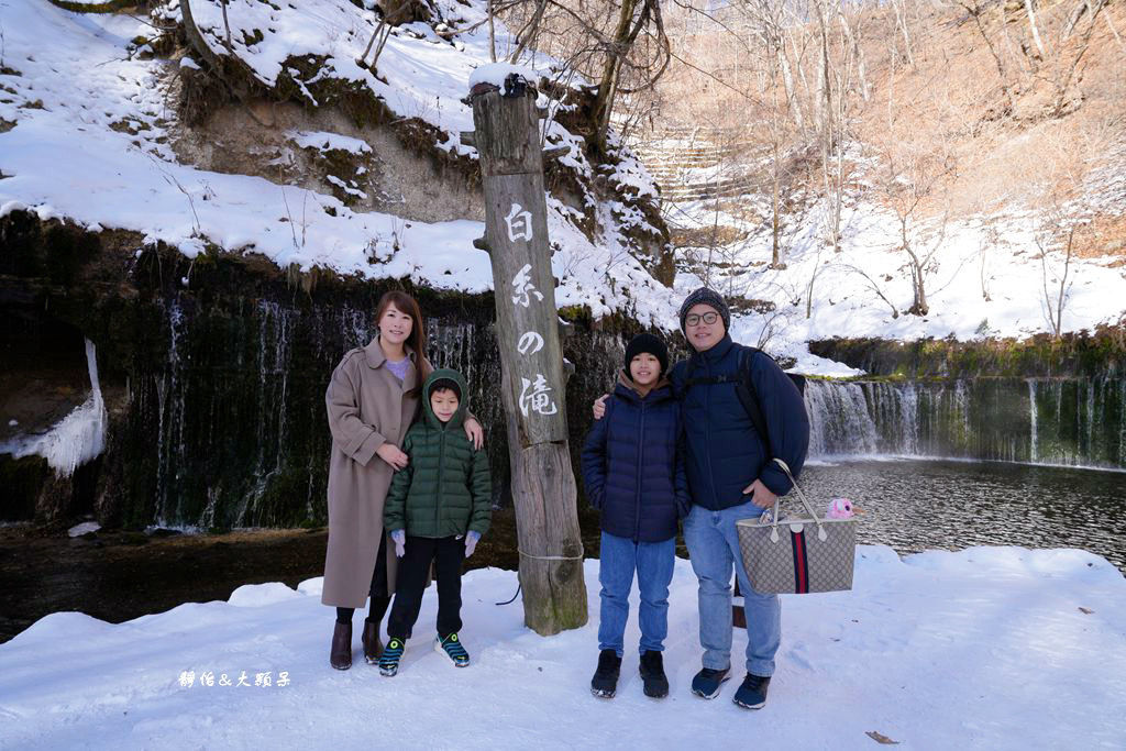
MULTIPOLYGON (((173 295, 161 304, 166 357, 127 386, 129 423, 119 436, 132 442, 120 447, 131 456, 122 477, 137 490, 119 513, 135 526, 188 529, 323 524, 331 440, 324 388, 345 352, 375 336, 373 309, 224 303, 204 307, 173 295)), ((432 365, 468 381, 501 502, 508 446, 491 322, 454 309, 428 318, 427 339, 432 365)), ((569 410, 584 430, 590 401, 614 381, 620 338, 591 333, 568 355, 581 374, 568 386, 569 410)), ((581 448, 581 433, 572 446, 581 448)))

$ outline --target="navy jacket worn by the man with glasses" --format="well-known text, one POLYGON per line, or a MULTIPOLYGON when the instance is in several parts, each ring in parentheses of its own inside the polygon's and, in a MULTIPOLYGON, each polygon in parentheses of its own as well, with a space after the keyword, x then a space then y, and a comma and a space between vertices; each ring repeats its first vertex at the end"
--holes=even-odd
MULTIPOLYGON (((776 495, 792 483, 770 462, 754 424, 739 401, 734 383, 688 385, 686 379, 739 374, 743 347, 724 336, 711 349, 672 366, 669 379, 680 396, 687 441, 688 486, 692 503, 720 510, 745 503, 743 489, 756 480, 776 495)), ((750 355, 751 382, 759 395, 770 433, 770 452, 797 477, 810 446, 810 419, 797 386, 778 364, 762 352, 750 355)))

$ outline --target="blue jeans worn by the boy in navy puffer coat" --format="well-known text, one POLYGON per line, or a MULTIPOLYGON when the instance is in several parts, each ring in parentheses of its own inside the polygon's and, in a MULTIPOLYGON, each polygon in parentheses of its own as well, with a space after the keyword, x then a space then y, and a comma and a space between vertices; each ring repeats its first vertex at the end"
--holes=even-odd
POLYGON ((641 594, 640 652, 661 652, 669 635, 669 582, 677 555, 677 538, 662 543, 635 543, 602 533, 598 582, 602 585, 602 609, 598 624, 598 649, 624 651, 626 620, 629 618, 629 590, 637 572, 641 594))

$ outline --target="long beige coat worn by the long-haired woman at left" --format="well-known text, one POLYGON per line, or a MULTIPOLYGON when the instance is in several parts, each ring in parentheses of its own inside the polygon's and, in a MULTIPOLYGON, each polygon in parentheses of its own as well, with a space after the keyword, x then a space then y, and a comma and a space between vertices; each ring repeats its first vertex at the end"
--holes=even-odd
MULTIPOLYGON (((402 383, 385 367, 376 337, 354 349, 332 372, 324 394, 332 431, 329 459, 329 548, 324 556, 321 602, 363 608, 372 587, 383 530, 383 501, 394 474, 375 450, 384 442, 402 446, 418 399, 406 392, 418 383, 415 355, 402 383)), ((430 364, 423 357, 427 368, 430 364)), ((387 589, 395 591, 397 558, 388 540, 387 589)))

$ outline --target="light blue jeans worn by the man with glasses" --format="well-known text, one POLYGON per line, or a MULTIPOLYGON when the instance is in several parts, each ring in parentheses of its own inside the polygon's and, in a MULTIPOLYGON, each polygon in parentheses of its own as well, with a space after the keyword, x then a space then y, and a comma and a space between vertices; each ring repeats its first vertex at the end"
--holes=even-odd
POLYGON ((721 511, 692 506, 685 519, 685 544, 699 580, 700 646, 704 667, 731 667, 731 569, 739 576, 747 614, 747 671, 774 674, 775 654, 781 640, 781 605, 777 594, 758 594, 751 589, 739 554, 736 519, 758 517, 762 509, 750 501, 721 511))

